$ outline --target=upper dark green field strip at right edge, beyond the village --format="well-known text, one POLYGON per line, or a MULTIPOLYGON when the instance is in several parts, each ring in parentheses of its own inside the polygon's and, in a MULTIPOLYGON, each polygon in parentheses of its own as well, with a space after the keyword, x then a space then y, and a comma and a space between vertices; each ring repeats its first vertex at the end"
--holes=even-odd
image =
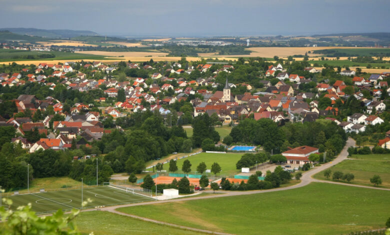
POLYGON ((333 55, 334 53, 344 53, 340 56, 377 56, 384 55, 390 56, 389 48, 334 48, 334 49, 323 49, 314 50, 313 53, 333 55))

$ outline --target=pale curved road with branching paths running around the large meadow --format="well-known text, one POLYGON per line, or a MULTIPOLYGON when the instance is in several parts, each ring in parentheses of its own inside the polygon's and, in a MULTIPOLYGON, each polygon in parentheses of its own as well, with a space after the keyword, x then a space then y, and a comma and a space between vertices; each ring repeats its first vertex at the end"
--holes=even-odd
MULTIPOLYGON (((283 190, 289 190, 289 189, 293 189, 293 188, 303 187, 303 186, 309 184, 310 182, 326 182, 326 183, 334 183, 334 184, 353 186, 353 187, 364 187, 364 188, 371 188, 371 189, 378 189, 378 190, 390 190, 388 188, 370 187, 370 186, 363 186, 363 185, 349 184, 349 183, 342 183, 342 182, 334 182, 334 181, 328 181, 328 180, 319 180, 319 179, 312 178, 312 176, 314 174, 347 159, 347 156, 348 156, 347 149, 350 146, 354 146, 354 143, 355 143, 355 141, 352 138, 348 138, 344 148, 341 150, 340 154, 338 154, 338 156, 333 161, 322 164, 320 166, 316 166, 316 167, 312 168, 311 170, 304 172, 302 174, 302 177, 300 178, 301 179, 300 183, 294 184, 294 185, 291 185, 288 187, 278 187, 278 188, 272 188, 272 189, 266 189, 266 190, 252 190, 252 191, 227 191, 226 193, 223 193, 223 194, 212 193, 210 195, 201 196, 201 197, 185 197, 185 198, 170 199, 170 200, 158 200, 158 201, 148 201, 148 202, 140 202, 140 203, 132 203, 132 204, 114 205, 114 206, 101 208, 100 210, 105 210, 105 211, 109 211, 112 213, 141 219, 144 221, 154 222, 154 223, 158 223, 158 224, 164 224, 164 225, 187 229, 187 230, 191 230, 191 231, 213 233, 213 234, 227 234, 227 233, 213 232, 210 230, 198 229, 198 228, 193 228, 193 227, 180 226, 180 225, 173 224, 173 223, 162 222, 162 221, 158 221, 158 220, 154 220, 154 219, 150 219, 150 218, 145 218, 145 217, 140 217, 140 216, 136 216, 136 215, 132 215, 132 214, 123 213, 123 212, 117 211, 116 209, 120 208, 120 207, 129 207, 129 206, 137 206, 137 205, 167 203, 167 202, 186 201, 186 200, 200 200, 200 199, 207 199, 207 198, 236 196, 236 195, 248 195, 248 194, 255 194, 255 193, 272 192, 272 191, 283 191, 283 190)), ((83 211, 90 211, 90 210, 96 210, 96 209, 86 209, 83 211)))

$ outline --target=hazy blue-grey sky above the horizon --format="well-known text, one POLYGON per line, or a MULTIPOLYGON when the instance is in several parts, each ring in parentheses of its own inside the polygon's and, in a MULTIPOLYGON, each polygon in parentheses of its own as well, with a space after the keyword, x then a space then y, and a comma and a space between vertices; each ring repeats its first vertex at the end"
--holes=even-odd
POLYGON ((390 32, 390 0, 0 0, 0 28, 121 36, 390 32))

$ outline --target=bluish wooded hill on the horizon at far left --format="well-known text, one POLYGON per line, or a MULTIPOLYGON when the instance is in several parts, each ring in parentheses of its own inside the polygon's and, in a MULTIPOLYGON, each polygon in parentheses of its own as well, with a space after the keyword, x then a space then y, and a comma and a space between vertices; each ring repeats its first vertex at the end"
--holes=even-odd
POLYGON ((13 33, 29 36, 41 36, 48 38, 70 38, 76 36, 97 36, 96 32, 88 30, 70 30, 70 29, 38 29, 38 28, 0 28, 1 31, 10 31, 13 33))

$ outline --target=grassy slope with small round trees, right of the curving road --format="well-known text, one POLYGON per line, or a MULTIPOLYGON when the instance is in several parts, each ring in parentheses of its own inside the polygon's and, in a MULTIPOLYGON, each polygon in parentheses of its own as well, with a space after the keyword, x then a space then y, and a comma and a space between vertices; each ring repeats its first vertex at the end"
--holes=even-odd
MULTIPOLYGON (((375 154, 379 155, 379 154, 375 154)), ((362 155, 360 155, 362 156, 362 155)), ((369 155, 366 155, 369 156, 369 155)), ((351 181, 354 184, 373 186, 369 179, 377 174, 382 179, 380 187, 390 188, 390 160, 343 160, 340 163, 330 167, 332 172, 341 171, 343 173, 352 173, 355 178, 351 181)), ((323 171, 314 175, 314 178, 325 180, 323 171)), ((329 178, 331 180, 331 176, 329 178)))

